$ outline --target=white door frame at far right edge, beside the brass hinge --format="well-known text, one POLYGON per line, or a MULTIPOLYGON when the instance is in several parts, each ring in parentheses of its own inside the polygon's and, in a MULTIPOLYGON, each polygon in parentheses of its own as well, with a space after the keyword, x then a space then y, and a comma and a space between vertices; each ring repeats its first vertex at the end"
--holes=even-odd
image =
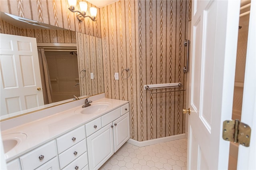
POLYGON ((250 146, 238 148, 238 170, 256 169, 256 1, 251 1, 241 121, 251 127, 250 146))

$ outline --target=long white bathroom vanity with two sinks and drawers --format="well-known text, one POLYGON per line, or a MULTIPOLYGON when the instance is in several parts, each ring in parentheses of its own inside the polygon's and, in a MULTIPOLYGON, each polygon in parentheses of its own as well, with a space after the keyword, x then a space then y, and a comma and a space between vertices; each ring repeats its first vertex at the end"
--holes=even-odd
POLYGON ((1 133, 8 169, 98 169, 130 138, 129 103, 102 98, 1 133))

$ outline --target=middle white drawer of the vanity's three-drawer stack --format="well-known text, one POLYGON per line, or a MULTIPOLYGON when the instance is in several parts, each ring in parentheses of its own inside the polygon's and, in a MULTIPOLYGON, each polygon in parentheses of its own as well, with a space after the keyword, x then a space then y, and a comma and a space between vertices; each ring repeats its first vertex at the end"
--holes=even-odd
POLYGON ((72 146, 68 150, 65 150, 59 155, 60 158, 60 169, 67 166, 70 162, 78 158, 86 152, 86 139, 82 140, 81 142, 77 143, 76 145, 72 146))

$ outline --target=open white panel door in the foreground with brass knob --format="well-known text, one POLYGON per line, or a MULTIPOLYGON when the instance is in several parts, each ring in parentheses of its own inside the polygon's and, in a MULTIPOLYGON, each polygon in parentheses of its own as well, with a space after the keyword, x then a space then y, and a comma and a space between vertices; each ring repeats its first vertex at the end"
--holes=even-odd
POLYGON ((239 11, 239 1, 192 1, 189 170, 228 168, 222 122, 232 117, 239 11))

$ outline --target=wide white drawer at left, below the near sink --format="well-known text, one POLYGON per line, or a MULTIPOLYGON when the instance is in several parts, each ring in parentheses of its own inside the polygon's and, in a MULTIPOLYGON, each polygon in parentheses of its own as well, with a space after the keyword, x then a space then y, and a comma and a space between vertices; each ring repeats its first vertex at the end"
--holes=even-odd
POLYGON ((52 140, 51 142, 20 156, 21 167, 25 170, 36 169, 55 156, 57 156, 56 143, 55 140, 52 140))

